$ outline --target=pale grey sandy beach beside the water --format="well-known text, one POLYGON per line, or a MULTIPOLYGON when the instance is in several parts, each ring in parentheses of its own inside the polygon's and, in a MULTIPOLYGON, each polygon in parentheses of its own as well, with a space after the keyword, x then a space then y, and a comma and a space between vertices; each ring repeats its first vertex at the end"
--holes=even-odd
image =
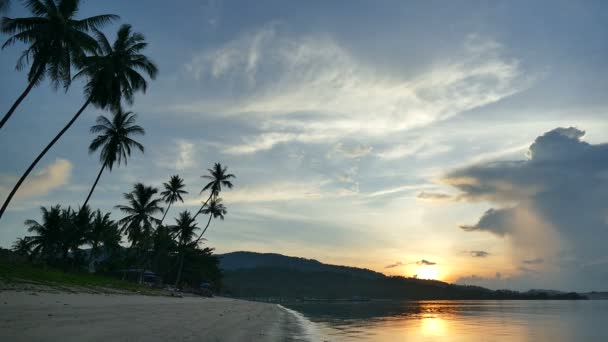
POLYGON ((295 341, 275 304, 229 298, 0 292, 0 341, 295 341))

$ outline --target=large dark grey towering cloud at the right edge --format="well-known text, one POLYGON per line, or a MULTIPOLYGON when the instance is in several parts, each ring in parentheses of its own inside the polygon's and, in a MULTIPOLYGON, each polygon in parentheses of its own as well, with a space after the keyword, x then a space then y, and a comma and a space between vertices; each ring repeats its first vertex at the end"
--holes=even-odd
POLYGON ((526 160, 448 173, 444 182, 461 191, 460 199, 495 206, 461 228, 507 239, 514 263, 538 265, 534 272, 554 272, 579 288, 600 274, 608 281, 599 266, 595 274, 581 269, 604 256, 601 241, 608 239, 608 145, 589 144, 583 136, 578 128, 556 128, 534 140, 526 160))

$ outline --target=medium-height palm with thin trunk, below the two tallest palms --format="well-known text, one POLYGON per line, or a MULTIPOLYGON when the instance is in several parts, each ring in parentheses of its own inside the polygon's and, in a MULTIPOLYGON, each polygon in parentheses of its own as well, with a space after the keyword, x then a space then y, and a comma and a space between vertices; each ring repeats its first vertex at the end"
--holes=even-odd
POLYGON ((89 202, 105 168, 108 168, 111 172, 114 163, 120 165, 124 161, 127 165, 127 157, 131 156, 131 148, 137 148, 142 153, 144 152, 144 146, 130 138, 132 135, 145 134, 141 126, 135 125, 136 117, 137 115, 133 112, 123 112, 119 109, 114 113, 112 120, 103 115, 98 116, 97 125, 91 127, 91 133, 100 134, 89 145, 89 153, 94 153, 101 148, 101 154, 99 155, 101 170, 99 170, 83 206, 86 206, 89 202))

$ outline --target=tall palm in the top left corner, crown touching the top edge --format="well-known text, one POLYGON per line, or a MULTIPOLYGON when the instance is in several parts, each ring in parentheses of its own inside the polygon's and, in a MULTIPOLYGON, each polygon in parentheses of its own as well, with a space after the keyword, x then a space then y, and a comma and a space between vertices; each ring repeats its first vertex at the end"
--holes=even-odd
MULTIPOLYGON (((85 53, 97 48, 97 42, 87 32, 119 18, 103 14, 76 20, 79 3, 79 0, 27 0, 25 6, 32 17, 3 18, 2 33, 12 36, 2 48, 16 42, 29 44, 17 61, 17 70, 22 70, 30 60, 32 63, 27 75, 28 85, 0 120, 0 129, 45 77, 54 88, 62 85, 67 90, 72 80, 72 66, 79 66, 85 53)), ((2 1, 0 7, 8 7, 8 1, 2 1)))

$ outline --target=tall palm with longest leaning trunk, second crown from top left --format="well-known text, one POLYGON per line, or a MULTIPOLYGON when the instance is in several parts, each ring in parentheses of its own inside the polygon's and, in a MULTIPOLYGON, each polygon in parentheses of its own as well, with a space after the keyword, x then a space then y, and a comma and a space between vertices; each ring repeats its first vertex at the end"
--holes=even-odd
POLYGON ((120 27, 116 41, 112 46, 99 30, 95 29, 95 34, 97 35, 99 49, 96 51, 96 55, 84 57, 82 62, 84 66, 76 75, 76 77, 88 78, 85 86, 86 100, 84 104, 19 178, 19 181, 4 201, 2 208, 0 208, 0 219, 13 196, 36 167, 36 164, 74 124, 90 103, 101 109, 106 107, 119 108, 122 99, 132 104, 134 93, 140 90, 145 92, 147 89, 146 80, 138 71, 145 72, 152 79, 156 78, 158 73, 156 66, 140 53, 147 46, 144 36, 140 33, 131 32, 130 25, 120 27))

